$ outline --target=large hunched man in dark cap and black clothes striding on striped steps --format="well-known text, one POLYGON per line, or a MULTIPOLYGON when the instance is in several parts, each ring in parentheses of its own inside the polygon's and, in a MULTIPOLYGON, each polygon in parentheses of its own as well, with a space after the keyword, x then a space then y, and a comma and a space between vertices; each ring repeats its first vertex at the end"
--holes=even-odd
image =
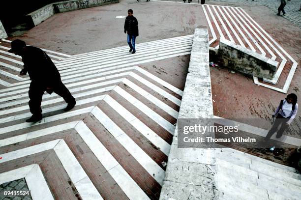
POLYGON ((24 41, 17 39, 11 42, 11 49, 8 52, 22 57, 24 68, 20 75, 26 75, 28 72, 30 76, 31 83, 28 93, 32 116, 26 122, 36 122, 42 119, 41 103, 45 91, 49 94, 55 92, 66 101, 68 105, 64 111, 69 111, 75 106, 74 97, 61 82, 57 67, 44 51, 26 46, 24 41))

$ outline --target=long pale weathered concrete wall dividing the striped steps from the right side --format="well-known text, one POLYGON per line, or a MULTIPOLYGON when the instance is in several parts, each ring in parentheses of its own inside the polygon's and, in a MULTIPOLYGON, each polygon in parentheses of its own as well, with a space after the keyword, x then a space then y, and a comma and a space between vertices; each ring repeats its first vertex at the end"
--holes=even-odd
MULTIPOLYGON (((194 32, 178 118, 213 118, 207 26, 198 26, 194 32)), ((178 148, 177 130, 178 124, 168 158, 160 200, 218 199, 214 150, 178 148)))

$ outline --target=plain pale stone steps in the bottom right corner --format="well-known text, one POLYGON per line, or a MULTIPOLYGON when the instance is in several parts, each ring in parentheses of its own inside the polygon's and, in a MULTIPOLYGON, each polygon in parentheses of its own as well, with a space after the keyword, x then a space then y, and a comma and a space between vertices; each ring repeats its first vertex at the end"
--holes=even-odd
POLYGON ((301 174, 231 148, 217 148, 219 197, 227 200, 299 200, 301 174))

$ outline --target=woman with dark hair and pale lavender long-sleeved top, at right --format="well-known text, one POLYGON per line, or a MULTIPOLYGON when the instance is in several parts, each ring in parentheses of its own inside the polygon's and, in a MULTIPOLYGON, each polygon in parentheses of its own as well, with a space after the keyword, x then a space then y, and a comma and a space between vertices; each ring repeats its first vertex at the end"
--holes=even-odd
MULTIPOLYGON (((290 125, 296 117, 297 111, 298 104, 296 94, 289 94, 285 99, 281 100, 275 113, 272 114, 272 117, 276 117, 276 119, 265 138, 265 142, 270 140, 271 136, 277 131, 278 126, 280 126, 280 129, 277 131, 276 138, 280 138, 288 125, 290 125)), ((274 150, 274 148, 275 146, 271 147, 271 150, 274 150)))

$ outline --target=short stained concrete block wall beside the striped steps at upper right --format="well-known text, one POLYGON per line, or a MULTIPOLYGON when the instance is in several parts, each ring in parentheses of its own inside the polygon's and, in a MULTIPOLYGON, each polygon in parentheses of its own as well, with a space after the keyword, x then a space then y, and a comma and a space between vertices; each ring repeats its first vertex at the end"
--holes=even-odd
POLYGON ((222 66, 258 78, 272 79, 278 62, 264 57, 229 40, 220 39, 218 62, 222 66))

